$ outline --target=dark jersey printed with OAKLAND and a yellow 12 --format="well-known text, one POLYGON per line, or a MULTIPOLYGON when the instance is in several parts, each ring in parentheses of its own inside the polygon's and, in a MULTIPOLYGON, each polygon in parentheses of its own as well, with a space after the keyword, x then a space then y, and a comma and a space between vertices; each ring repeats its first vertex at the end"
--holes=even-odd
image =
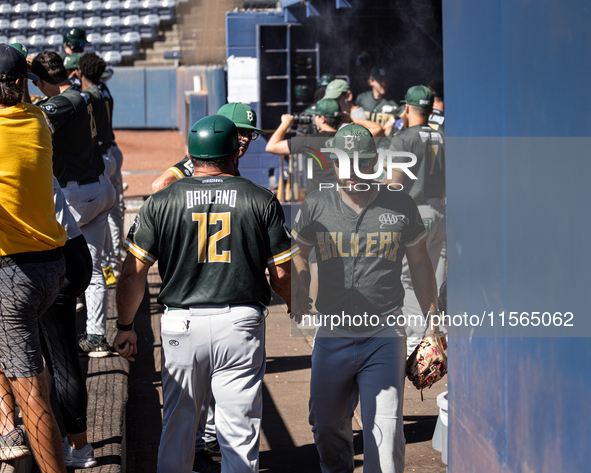
POLYGON ((273 193, 235 176, 187 177, 153 194, 124 246, 158 261, 158 301, 177 308, 268 304, 265 269, 298 251, 273 193))

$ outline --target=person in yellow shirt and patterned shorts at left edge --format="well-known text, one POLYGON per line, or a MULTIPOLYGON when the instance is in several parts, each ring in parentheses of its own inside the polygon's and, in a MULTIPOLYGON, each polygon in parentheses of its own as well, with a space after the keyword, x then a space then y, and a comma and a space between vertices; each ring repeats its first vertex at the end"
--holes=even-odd
MULTIPOLYGON (((67 236, 54 212, 52 125, 41 110, 22 102, 27 77, 39 79, 27 72, 20 51, 0 44, 0 376, 8 378, 22 409, 41 471, 66 473, 37 320, 64 279, 67 236)), ((5 457, 25 441, 20 428, 7 427, 0 432, 5 457)))

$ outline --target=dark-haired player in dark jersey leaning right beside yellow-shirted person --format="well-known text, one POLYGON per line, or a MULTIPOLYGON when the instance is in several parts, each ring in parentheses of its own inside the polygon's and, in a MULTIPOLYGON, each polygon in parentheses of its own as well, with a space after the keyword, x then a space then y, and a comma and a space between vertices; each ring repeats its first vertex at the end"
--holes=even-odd
POLYGON ((72 87, 61 58, 53 51, 37 55, 31 69, 39 76, 37 87, 48 97, 39 107, 55 129, 53 172, 92 256, 92 278, 85 293, 87 335, 80 340, 80 350, 92 357, 107 356, 108 294, 101 261, 115 189, 104 173, 89 96, 72 87))

